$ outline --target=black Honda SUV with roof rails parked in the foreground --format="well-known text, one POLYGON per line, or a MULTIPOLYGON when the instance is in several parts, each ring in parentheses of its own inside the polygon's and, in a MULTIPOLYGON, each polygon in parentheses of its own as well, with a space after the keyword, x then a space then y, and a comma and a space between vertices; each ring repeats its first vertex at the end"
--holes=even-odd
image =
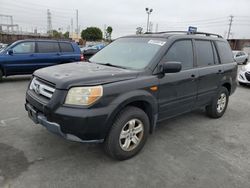
POLYGON ((229 44, 209 33, 162 32, 117 39, 89 62, 36 71, 30 118, 79 142, 104 142, 119 160, 136 155, 158 122, 205 107, 221 117, 236 89, 229 44))

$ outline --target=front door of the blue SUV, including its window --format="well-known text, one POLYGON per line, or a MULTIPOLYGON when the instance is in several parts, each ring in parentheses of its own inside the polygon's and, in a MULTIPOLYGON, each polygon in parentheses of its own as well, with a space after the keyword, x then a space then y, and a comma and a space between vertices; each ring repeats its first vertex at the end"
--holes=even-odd
POLYGON ((35 42, 20 42, 13 48, 13 54, 5 57, 4 69, 7 75, 30 74, 35 60, 35 42))

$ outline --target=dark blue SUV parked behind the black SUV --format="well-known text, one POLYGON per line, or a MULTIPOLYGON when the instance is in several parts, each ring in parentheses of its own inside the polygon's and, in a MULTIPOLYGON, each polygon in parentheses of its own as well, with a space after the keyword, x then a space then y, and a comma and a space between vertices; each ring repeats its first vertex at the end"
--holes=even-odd
POLYGON ((32 74, 43 67, 82 59, 80 49, 74 42, 20 40, 0 52, 0 80, 3 76, 32 74))

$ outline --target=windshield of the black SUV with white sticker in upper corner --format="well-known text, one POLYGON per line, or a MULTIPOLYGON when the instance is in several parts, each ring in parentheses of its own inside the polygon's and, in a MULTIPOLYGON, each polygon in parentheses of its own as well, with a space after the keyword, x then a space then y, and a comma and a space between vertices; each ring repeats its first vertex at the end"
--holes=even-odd
POLYGON ((120 38, 99 51, 90 61, 129 69, 143 69, 164 44, 164 39, 120 38))

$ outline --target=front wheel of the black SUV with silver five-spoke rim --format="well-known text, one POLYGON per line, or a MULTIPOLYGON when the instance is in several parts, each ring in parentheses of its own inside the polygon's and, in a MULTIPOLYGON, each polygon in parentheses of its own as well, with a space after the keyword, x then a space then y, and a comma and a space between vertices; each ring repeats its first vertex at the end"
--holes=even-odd
POLYGON ((126 107, 117 115, 105 139, 106 153, 117 160, 135 156, 146 143, 149 125, 149 118, 143 110, 126 107))

